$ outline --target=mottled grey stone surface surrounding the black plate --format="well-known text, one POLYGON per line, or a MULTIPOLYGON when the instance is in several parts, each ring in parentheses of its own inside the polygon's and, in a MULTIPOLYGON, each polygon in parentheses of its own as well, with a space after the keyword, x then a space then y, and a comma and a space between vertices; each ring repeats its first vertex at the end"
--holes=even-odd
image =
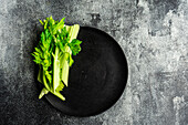
POLYGON ((187 0, 0 0, 0 125, 188 125, 187 0), (38 100, 31 52, 39 19, 98 28, 129 64, 121 100, 91 117, 38 100))

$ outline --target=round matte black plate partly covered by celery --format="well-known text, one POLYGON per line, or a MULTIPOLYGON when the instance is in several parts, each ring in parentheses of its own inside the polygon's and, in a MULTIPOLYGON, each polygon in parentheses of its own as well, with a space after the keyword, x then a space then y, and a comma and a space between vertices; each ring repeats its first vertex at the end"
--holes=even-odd
POLYGON ((127 62, 117 42, 95 28, 81 27, 82 51, 74 56, 70 69, 69 87, 63 102, 53 94, 46 100, 58 110, 72 116, 100 114, 117 102, 127 82, 127 62))

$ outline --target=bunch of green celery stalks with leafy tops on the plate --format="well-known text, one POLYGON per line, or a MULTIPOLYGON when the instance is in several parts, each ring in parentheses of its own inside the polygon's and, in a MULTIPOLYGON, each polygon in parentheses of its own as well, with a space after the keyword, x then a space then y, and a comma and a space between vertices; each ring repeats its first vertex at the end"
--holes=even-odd
POLYGON ((82 41, 76 39, 80 25, 65 25, 64 18, 54 21, 52 17, 40 22, 43 32, 32 53, 33 61, 39 64, 38 81, 44 85, 39 98, 51 92, 65 101, 60 91, 67 86, 69 70, 74 63, 72 54, 76 55, 81 51, 82 41))

